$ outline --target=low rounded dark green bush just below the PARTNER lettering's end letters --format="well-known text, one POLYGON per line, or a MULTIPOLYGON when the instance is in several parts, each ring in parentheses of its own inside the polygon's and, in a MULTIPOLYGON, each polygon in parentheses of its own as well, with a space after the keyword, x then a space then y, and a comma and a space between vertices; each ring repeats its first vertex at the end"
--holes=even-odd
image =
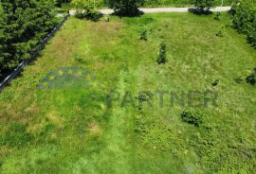
POLYGON ((203 116, 199 112, 193 112, 191 110, 181 113, 182 121, 192 124, 195 127, 199 127, 203 123, 203 116))

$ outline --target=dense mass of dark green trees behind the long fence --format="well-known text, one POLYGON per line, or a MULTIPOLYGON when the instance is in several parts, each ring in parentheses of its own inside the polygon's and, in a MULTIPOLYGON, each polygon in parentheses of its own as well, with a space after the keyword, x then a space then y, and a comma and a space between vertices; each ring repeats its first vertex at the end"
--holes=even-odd
POLYGON ((2 75, 28 59, 56 25, 50 1, 2 0, 0 69, 2 75))

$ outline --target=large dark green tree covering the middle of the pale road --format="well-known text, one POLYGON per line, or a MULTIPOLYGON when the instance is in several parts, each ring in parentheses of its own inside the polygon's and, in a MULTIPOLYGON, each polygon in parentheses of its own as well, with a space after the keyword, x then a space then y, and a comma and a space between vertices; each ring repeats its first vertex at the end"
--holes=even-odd
POLYGON ((106 0, 109 8, 121 16, 135 16, 140 13, 138 7, 143 6, 145 0, 106 0))

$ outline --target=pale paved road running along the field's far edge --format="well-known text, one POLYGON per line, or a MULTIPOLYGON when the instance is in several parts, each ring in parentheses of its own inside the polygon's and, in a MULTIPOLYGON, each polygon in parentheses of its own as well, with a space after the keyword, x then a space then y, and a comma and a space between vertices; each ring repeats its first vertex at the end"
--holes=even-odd
MULTIPOLYGON (((155 12, 188 12, 191 8, 154 8, 154 9, 140 9, 145 13, 155 13, 155 12)), ((211 11, 228 11, 230 7, 217 7, 210 9, 211 11)), ((102 14, 112 14, 113 9, 100 9, 102 14)), ((74 15, 76 10, 70 10, 69 13, 74 15)))

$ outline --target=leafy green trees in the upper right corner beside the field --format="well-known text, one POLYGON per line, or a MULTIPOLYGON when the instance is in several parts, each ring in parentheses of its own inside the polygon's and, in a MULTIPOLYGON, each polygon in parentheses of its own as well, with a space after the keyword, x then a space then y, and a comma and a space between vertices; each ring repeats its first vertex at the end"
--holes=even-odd
POLYGON ((256 48, 256 3, 237 3, 232 6, 230 14, 233 27, 246 34, 247 42, 256 48))

